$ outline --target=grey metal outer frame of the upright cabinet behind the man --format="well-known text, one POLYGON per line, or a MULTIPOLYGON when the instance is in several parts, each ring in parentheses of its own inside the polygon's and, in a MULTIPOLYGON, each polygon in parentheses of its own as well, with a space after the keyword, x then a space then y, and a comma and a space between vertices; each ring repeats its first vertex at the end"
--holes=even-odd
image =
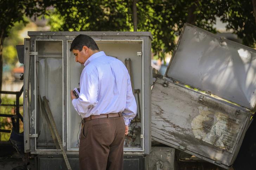
MULTIPOLYGON (((79 34, 86 34, 91 36, 95 39, 95 41, 101 41, 104 39, 104 41, 129 41, 129 40, 143 40, 142 44, 142 72, 144 78, 143 78, 143 84, 141 85, 143 88, 143 150, 136 151, 136 150, 129 150, 124 151, 126 155, 148 155, 151 149, 151 85, 152 85, 152 77, 149 77, 152 75, 152 68, 151 68, 151 40, 153 40, 153 37, 150 32, 28 32, 28 35, 31 37, 31 51, 36 52, 36 41, 62 41, 63 45, 63 76, 67 76, 67 68, 68 68, 68 60, 65 60, 65 57, 68 56, 68 53, 65 53, 65 50, 68 52, 69 49, 67 49, 67 43, 68 41, 72 41, 75 36, 79 34), (145 57, 146 56, 146 57, 145 57), (145 97, 146 95, 146 97, 145 97)), ((32 54, 31 54, 32 55, 32 54)), ((35 63, 33 61, 35 58, 31 57, 31 62, 35 63)), ((33 68, 34 64, 32 64, 32 69, 35 70, 36 68, 33 68)), ((31 77, 35 77, 33 75, 34 73, 31 73, 31 77)), ((33 82, 34 79, 31 80, 31 112, 30 112, 30 134, 35 134, 34 128, 35 128, 35 109, 34 108, 36 103, 36 94, 33 94, 33 90, 37 88, 36 82, 33 82), (34 86, 34 87, 33 87, 34 86), (33 89, 34 88, 34 89, 33 89)), ((67 89, 67 81, 66 79, 63 80, 63 95, 68 96, 67 89)), ((63 104, 68 106, 67 100, 68 98, 64 98, 63 96, 63 104)), ((67 148, 67 130, 68 130, 68 110, 66 110, 67 107, 63 108, 63 145, 64 148, 67 150, 67 154, 73 155, 78 154, 78 150, 68 150, 67 148)), ((141 109, 142 110, 142 109, 141 109)), ((31 154, 61 154, 60 150, 35 150, 36 148, 36 140, 31 139, 31 148, 30 152, 31 154)))

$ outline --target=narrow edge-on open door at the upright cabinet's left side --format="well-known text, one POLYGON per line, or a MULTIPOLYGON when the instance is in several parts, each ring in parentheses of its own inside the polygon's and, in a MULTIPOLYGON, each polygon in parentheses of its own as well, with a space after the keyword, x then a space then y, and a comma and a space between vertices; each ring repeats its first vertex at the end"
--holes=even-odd
POLYGON ((24 39, 24 94, 23 94, 23 121, 24 121, 24 151, 30 151, 30 118, 29 118, 29 73, 30 73, 30 39, 24 39))

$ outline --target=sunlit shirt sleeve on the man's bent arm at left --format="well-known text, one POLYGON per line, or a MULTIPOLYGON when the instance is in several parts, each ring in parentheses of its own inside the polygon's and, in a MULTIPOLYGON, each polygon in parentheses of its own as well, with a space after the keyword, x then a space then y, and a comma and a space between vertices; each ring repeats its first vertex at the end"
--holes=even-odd
POLYGON ((72 105, 79 115, 86 114, 89 108, 96 106, 98 85, 97 73, 82 73, 79 98, 72 100, 72 105))

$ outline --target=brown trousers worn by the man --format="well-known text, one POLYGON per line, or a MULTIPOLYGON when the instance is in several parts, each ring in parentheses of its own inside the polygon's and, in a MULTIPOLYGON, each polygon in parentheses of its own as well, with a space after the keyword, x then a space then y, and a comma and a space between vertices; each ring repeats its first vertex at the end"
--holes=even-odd
POLYGON ((97 118, 82 126, 80 170, 123 170, 123 117, 97 118))

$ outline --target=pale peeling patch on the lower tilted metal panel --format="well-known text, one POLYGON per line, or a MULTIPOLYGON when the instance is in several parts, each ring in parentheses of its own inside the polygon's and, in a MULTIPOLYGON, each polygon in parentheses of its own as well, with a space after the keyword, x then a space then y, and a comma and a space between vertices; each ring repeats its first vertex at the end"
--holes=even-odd
POLYGON ((220 149, 232 152, 241 122, 218 111, 213 112, 208 107, 199 106, 198 113, 199 115, 191 122, 194 136, 220 149))

